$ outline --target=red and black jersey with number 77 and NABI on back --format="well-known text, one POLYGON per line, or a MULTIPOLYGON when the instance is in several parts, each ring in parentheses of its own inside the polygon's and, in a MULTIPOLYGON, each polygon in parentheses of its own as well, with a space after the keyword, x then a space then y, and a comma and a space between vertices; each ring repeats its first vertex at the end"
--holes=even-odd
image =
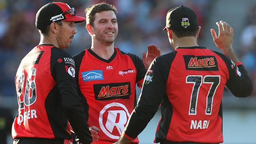
POLYGON ((157 57, 145 76, 125 135, 137 137, 161 105, 154 142, 221 143, 225 86, 237 97, 252 93, 243 65, 221 53, 195 46, 157 57))

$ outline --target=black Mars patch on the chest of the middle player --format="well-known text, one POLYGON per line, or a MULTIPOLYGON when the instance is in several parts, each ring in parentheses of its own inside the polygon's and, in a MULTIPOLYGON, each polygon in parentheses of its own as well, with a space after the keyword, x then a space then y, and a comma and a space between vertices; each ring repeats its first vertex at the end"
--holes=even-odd
POLYGON ((95 100, 129 99, 131 95, 130 82, 95 84, 93 89, 95 100))

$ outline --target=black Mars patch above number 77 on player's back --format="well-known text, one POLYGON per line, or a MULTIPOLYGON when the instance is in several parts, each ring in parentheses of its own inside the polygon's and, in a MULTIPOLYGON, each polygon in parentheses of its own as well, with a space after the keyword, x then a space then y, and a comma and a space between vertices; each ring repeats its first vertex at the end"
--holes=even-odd
POLYGON ((218 71, 218 62, 214 55, 195 56, 183 55, 186 70, 218 71))

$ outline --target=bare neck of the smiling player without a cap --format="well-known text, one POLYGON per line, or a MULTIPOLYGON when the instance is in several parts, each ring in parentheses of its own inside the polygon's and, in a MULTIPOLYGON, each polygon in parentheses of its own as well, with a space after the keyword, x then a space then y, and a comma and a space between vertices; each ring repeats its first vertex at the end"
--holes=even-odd
POLYGON ((108 45, 92 40, 91 50, 102 59, 108 60, 114 54, 114 42, 108 45))

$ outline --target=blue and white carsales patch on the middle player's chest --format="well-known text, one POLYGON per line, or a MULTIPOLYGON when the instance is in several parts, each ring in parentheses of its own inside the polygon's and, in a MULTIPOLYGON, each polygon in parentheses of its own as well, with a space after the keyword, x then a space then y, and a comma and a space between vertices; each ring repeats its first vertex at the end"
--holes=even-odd
POLYGON ((83 82, 85 82, 85 81, 100 80, 104 78, 103 78, 102 70, 91 70, 87 72, 82 72, 82 79, 83 79, 83 82))

